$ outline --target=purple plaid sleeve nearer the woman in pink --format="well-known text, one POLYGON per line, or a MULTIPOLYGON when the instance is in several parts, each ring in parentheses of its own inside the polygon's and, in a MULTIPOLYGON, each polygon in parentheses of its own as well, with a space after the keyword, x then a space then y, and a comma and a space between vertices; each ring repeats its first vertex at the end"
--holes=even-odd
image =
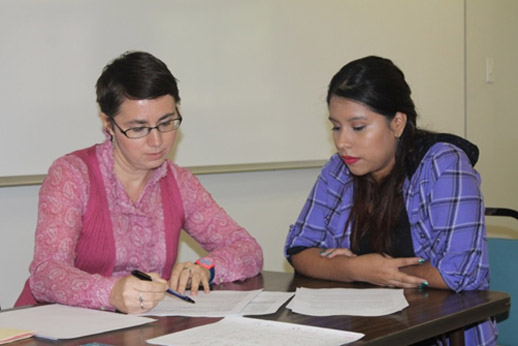
MULTIPOLYGON (((330 171, 334 171, 335 163, 330 161, 320 173, 315 185, 311 189, 308 198, 300 212, 300 215, 295 224, 290 226, 286 243, 284 246, 284 254, 288 260, 292 255, 298 252, 311 248, 329 248, 338 247, 343 229, 333 232, 330 224, 337 221, 338 214, 336 209, 341 201, 341 192, 332 193, 333 188, 330 188, 330 171), (328 201, 334 198, 335 207, 330 207, 328 201)), ((341 188, 338 190, 341 191, 341 188)), ((341 224, 341 222, 337 222, 341 224)))

